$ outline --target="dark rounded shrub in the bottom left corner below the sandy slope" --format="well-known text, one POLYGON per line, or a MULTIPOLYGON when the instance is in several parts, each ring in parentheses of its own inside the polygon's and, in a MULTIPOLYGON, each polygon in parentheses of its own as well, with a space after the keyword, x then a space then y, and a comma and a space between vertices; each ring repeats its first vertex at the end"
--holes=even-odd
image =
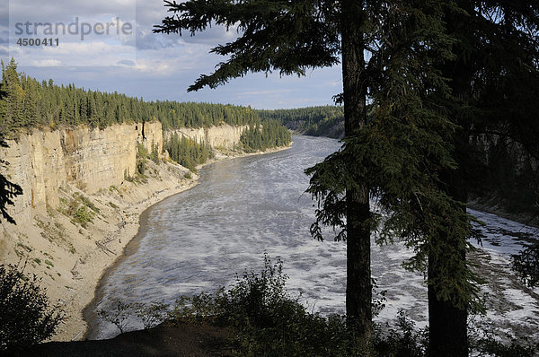
POLYGON ((54 335, 61 320, 36 275, 0 265, 0 352, 40 343, 54 335))

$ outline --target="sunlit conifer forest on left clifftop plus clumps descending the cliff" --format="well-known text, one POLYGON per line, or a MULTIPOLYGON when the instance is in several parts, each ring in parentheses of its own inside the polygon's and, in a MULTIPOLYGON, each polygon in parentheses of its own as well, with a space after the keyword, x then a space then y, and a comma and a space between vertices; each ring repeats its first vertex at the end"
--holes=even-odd
MULTIPOLYGON (((149 121, 158 118, 163 130, 177 127, 207 127, 228 124, 249 125, 241 139, 247 152, 266 150, 289 144, 287 129, 277 121, 268 120, 261 126, 256 111, 240 106, 181 103, 177 101, 149 101, 125 94, 89 91, 74 84, 56 85, 53 80, 39 82, 17 72, 14 59, 2 63, 0 86, 0 132, 9 137, 21 128, 34 126, 89 125, 106 127, 125 122, 149 121)), ((206 143, 197 143, 173 135, 164 143, 172 160, 194 170, 212 157, 206 143)))

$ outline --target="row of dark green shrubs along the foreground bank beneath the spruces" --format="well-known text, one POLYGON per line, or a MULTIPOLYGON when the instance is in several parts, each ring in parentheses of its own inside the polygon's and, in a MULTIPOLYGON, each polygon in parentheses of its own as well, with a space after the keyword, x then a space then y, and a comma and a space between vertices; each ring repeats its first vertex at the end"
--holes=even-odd
MULTIPOLYGON (((376 326, 373 341, 358 340, 355 328, 343 316, 328 318, 307 311, 286 289, 287 275, 282 262, 272 264, 264 255, 261 273, 244 272, 229 288, 181 296, 168 317, 178 326, 184 323, 214 324, 231 328, 234 355, 237 356, 427 356, 428 329, 417 330, 403 310, 394 327, 376 326), (365 347, 367 346, 367 347, 365 347), (369 348, 369 351, 365 351, 369 348)), ((373 309, 381 309, 378 300, 373 309)), ((116 302, 100 315, 116 325, 126 327, 128 316, 135 313, 146 327, 162 322, 168 307, 162 303, 124 304, 116 302)), ((473 326, 470 327, 473 331, 473 326)), ((470 338, 471 351, 478 356, 528 357, 535 355, 533 346, 513 342, 501 344, 492 335, 470 338)))

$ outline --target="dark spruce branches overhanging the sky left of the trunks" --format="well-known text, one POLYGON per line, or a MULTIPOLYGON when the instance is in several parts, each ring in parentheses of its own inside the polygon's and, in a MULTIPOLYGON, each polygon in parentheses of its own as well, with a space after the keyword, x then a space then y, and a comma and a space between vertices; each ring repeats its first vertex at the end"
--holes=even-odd
POLYGON ((234 0, 165 1, 173 14, 156 32, 194 35, 211 24, 237 27, 243 34, 212 52, 229 57, 213 74, 202 74, 189 91, 215 88, 249 72, 305 75, 308 68, 339 62, 339 24, 332 1, 296 0, 238 2, 234 0))

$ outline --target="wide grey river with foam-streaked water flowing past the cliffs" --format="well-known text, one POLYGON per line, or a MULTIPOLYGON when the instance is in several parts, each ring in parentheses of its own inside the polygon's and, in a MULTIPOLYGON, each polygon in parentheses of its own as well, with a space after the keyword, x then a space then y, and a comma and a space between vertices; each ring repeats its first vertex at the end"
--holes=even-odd
MULTIPOLYGON (((300 295, 309 309, 344 313, 345 243, 331 236, 323 242, 311 239, 314 206, 304 194, 304 170, 337 150, 339 143, 308 136, 293 139, 286 151, 208 165, 200 172, 199 185, 148 208, 137 237, 103 276, 96 299, 84 312, 88 337, 118 335, 116 327, 95 314, 110 301, 173 303, 181 295, 214 292, 234 283, 235 274, 245 269, 259 272, 265 251, 272 259, 282 259, 289 291, 300 295)), ((478 318, 479 325, 539 340, 537 291, 517 282, 508 268, 509 255, 527 244, 535 231, 471 212, 487 223, 484 246, 473 256, 482 262, 479 268, 489 280, 482 291, 488 294, 490 312, 478 318)), ((423 274, 401 266, 410 256, 401 243, 376 247, 373 242, 373 276, 387 299, 378 321, 391 321, 398 309, 405 309, 419 327, 426 325, 423 274)), ((133 320, 130 327, 140 326, 133 320)))

